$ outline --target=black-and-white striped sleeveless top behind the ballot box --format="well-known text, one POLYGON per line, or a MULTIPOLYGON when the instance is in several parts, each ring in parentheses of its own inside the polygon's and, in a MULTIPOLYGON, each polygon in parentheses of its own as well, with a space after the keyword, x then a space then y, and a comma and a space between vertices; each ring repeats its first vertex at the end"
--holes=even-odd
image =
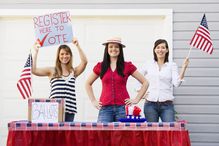
POLYGON ((69 74, 68 77, 52 78, 50 80, 50 98, 65 99, 65 112, 77 113, 75 77, 69 74))

